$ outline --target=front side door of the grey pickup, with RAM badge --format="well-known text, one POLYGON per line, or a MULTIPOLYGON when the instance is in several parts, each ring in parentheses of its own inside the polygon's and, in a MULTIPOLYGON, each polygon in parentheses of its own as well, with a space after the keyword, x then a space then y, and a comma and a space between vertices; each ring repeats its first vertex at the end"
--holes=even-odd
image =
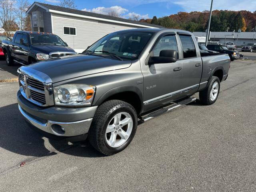
MULTIPOLYGON (((176 50, 178 52, 175 34, 160 35, 150 56, 159 56, 161 50, 176 50)), ((174 63, 159 63, 147 65, 142 63, 144 77, 144 110, 150 110, 175 100, 175 94, 181 86, 182 60, 174 63)))

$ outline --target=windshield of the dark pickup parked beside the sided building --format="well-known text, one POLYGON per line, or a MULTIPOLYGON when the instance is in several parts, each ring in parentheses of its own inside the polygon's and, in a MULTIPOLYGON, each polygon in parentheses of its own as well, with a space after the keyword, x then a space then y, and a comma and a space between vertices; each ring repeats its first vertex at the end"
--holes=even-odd
POLYGON ((32 34, 30 35, 32 45, 54 44, 66 46, 64 41, 56 35, 32 34))

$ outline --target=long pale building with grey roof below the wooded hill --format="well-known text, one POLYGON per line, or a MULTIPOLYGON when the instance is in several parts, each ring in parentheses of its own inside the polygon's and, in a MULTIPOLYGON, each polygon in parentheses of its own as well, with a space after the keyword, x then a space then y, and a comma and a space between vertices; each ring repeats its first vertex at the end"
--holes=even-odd
MULTIPOLYGON (((206 37, 206 32, 193 32, 194 36, 206 37)), ((242 46, 247 43, 256 43, 255 32, 210 32, 209 40, 211 42, 234 42, 237 46, 242 46)))

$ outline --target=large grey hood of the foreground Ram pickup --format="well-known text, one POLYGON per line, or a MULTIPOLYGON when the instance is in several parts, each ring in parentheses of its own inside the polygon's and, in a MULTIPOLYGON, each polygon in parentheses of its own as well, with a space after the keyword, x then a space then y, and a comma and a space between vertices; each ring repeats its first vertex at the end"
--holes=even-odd
POLYGON ((131 61, 76 54, 37 62, 27 67, 47 74, 52 82, 56 83, 80 76, 128 68, 131 64, 131 61))

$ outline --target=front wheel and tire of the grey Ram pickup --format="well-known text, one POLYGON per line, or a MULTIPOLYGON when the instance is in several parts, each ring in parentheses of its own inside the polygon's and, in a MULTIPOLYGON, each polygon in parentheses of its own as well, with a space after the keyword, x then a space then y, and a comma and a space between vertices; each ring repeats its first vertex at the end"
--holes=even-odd
POLYGON ((104 102, 92 120, 89 142, 102 154, 116 154, 130 144, 137 125, 137 113, 132 105, 120 100, 104 102))

